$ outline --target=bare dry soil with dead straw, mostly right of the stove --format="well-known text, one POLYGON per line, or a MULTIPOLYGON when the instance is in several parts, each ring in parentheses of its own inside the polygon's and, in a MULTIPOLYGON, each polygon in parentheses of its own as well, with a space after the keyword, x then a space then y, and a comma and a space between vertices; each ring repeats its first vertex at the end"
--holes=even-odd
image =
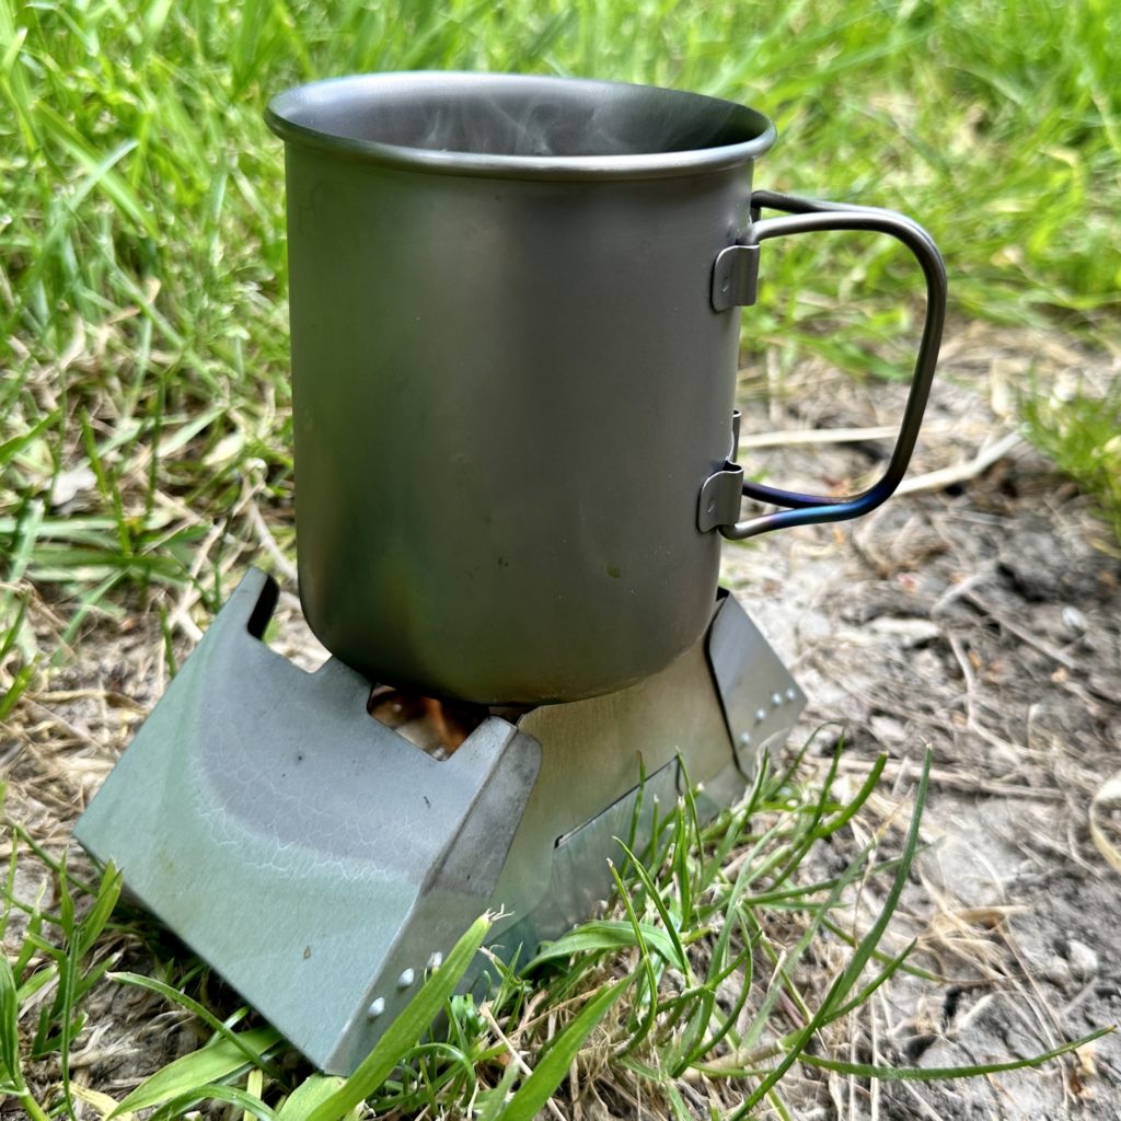
MULTIPOLYGON (((1000 1060, 1121 1020, 1121 790, 1109 785, 1121 771, 1121 562, 1096 547, 1106 532, 1086 500, 1017 439, 1013 418, 1029 372, 1062 391, 1118 371, 1115 358, 1049 335, 952 327, 911 493, 860 522, 725 550, 726 582, 810 697, 799 734, 826 725, 823 766, 843 735, 842 781, 859 782, 883 751, 901 793, 934 749, 933 847, 900 923, 945 981, 880 994, 854 1029, 858 1060, 1000 1060)), ((902 396, 812 365, 781 386, 745 379, 744 442, 890 425, 902 396)), ((780 485, 841 492, 881 465, 884 446, 756 446, 741 461, 780 485)), ((194 624, 179 606, 169 627, 182 652, 194 624)), ((281 615, 293 610, 287 594, 281 615)), ((33 621, 45 641, 59 630, 43 602, 33 621)), ((279 645, 314 660, 299 634, 284 630, 279 645)), ((0 734, 9 816, 63 845, 166 683, 157 620, 93 628, 0 734)), ((78 1081, 110 1093, 135 1077, 130 1055, 166 1062, 189 1044, 156 998, 114 991, 74 1062, 78 1081)), ((804 1099, 799 1121, 1121 1118, 1121 1039, 1040 1072, 952 1085, 821 1078, 804 1099)))

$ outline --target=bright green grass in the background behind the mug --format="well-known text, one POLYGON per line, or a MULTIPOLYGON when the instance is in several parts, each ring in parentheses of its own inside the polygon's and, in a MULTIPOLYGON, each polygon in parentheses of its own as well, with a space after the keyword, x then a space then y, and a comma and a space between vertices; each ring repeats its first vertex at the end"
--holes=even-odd
MULTIPOLYGON (((0 0, 4 617, 27 581, 80 613, 114 610, 122 585, 194 582, 212 611, 215 572, 258 544, 257 498, 290 555, 270 93, 463 67, 749 101, 780 129, 760 185, 908 211, 943 247, 957 313, 1105 343, 1121 303, 1114 9, 0 0)), ((918 278, 904 257, 836 235, 769 253, 749 358, 815 351, 906 376, 918 278), (855 302, 859 317, 839 311, 855 302)))

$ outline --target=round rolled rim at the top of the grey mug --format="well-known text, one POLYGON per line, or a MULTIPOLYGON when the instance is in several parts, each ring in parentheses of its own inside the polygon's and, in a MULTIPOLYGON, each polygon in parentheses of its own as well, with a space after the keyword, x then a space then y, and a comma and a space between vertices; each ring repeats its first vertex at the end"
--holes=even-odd
POLYGON ((665 86, 638 85, 627 82, 604 82, 592 78, 550 75, 491 74, 464 71, 391 71, 378 74, 353 74, 325 78, 295 86, 269 100, 265 111, 268 127, 286 143, 313 149, 344 159, 400 169, 444 175, 484 176, 491 178, 532 179, 636 179, 696 175, 721 172, 750 164, 766 152, 776 139, 773 123, 758 110, 712 98, 706 94, 671 90, 665 86), (373 99, 379 93, 415 91, 454 92, 455 87, 506 89, 521 86, 527 95, 555 90, 557 86, 580 86, 585 95, 619 98, 636 91, 657 91, 693 102, 704 108, 708 102, 728 117, 732 114, 752 135, 733 143, 712 145, 682 151, 655 151, 627 155, 539 156, 444 151, 390 143, 343 135, 323 127, 324 113, 355 98, 373 99))

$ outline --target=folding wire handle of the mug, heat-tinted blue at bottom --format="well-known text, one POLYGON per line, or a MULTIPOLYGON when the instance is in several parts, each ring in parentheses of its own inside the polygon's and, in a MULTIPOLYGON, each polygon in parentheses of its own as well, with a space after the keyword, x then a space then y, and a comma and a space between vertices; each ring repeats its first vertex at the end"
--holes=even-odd
MULTIPOLYGON (((702 490, 698 511, 698 527, 702 530, 719 528, 724 537, 743 540, 772 529, 790 526, 807 526, 823 521, 844 521, 859 518, 874 510, 890 498, 899 485, 915 441, 918 437, 923 411, 930 393, 942 342, 942 327, 946 317, 946 269, 930 235, 916 222, 893 211, 874 206, 851 206, 841 203, 817 202, 794 195, 777 194, 772 191, 756 191, 751 195, 751 225, 743 240, 721 251, 713 267, 712 304, 721 312, 734 306, 753 304, 759 271, 759 247, 771 238, 790 233, 813 233, 816 230, 872 230, 888 233, 901 241, 915 256, 926 277, 926 323, 915 360, 910 392, 904 408, 899 435, 891 452, 887 470, 880 480, 868 490, 845 498, 824 494, 800 494, 797 491, 779 490, 762 483, 743 482, 742 469, 734 463, 712 475, 702 490), (759 212, 767 207, 785 212, 784 217, 759 221, 759 212), (730 509, 728 484, 735 481, 739 473, 740 492, 734 495, 735 513, 724 522, 723 516, 730 509), (723 491, 723 494, 721 493, 723 491), (786 507, 775 513, 765 513, 747 521, 734 521, 739 513, 739 500, 743 495, 771 506, 786 507)), ((732 450, 733 456, 735 448, 732 450)))

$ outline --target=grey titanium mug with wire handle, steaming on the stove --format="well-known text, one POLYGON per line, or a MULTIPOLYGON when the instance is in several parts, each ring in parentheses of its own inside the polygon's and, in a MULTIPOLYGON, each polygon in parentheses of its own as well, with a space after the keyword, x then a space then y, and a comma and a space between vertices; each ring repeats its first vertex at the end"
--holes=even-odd
POLYGON ((494 705, 623 688, 705 630, 721 535, 856 517, 898 485, 938 251, 890 211, 752 194, 775 140, 756 110, 392 73, 291 90, 266 119, 286 145, 300 597, 371 680, 494 705), (888 233, 927 284, 895 451, 843 500, 734 462, 760 245, 816 230, 888 233), (785 509, 741 521, 742 494, 785 509))

